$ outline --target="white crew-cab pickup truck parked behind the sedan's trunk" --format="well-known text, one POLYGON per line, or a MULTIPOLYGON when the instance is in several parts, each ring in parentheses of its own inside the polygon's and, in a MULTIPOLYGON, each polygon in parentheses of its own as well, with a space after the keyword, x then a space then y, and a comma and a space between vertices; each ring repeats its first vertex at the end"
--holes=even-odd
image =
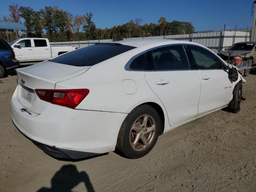
POLYGON ((19 61, 48 60, 78 49, 77 46, 50 46, 50 42, 46 38, 21 38, 9 44, 19 61))

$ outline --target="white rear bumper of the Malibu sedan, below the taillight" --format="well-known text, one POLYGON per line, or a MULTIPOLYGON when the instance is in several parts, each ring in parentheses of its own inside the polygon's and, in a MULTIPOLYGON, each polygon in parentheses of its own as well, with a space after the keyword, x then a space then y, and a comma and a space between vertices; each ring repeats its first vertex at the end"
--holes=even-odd
POLYGON ((114 151, 120 126, 127 116, 123 113, 75 110, 54 104, 36 114, 20 104, 17 89, 12 96, 11 109, 12 121, 22 134, 46 153, 64 158, 67 158, 65 155, 83 158, 114 151))

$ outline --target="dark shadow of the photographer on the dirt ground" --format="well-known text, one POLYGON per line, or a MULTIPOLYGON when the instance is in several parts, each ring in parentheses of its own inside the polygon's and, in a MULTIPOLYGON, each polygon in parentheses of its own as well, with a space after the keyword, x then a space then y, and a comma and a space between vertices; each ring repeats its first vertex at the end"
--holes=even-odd
POLYGON ((86 172, 78 172, 76 166, 71 164, 64 165, 52 177, 52 187, 42 187, 38 192, 72 192, 72 188, 77 186, 80 182, 84 182, 88 192, 95 192, 86 172))

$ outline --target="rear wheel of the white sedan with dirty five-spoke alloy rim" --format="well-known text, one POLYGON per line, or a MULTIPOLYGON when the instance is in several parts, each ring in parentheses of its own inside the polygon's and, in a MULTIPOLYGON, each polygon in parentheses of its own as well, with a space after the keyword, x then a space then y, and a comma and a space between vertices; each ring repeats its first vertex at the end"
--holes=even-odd
POLYGON ((116 152, 126 158, 141 158, 152 150, 160 130, 162 121, 156 110, 149 105, 138 106, 127 115, 120 128, 116 152))

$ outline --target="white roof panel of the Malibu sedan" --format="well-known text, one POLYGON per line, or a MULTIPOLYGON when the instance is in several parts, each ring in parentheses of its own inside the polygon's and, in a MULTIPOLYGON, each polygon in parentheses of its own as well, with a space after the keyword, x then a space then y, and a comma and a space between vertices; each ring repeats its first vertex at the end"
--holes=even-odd
POLYGON ((108 41, 108 42, 101 42, 101 43, 118 43, 122 45, 128 45, 133 47, 141 47, 149 44, 156 44, 160 42, 170 42, 172 44, 173 42, 176 42, 177 40, 173 39, 126 39, 121 41, 108 41))

